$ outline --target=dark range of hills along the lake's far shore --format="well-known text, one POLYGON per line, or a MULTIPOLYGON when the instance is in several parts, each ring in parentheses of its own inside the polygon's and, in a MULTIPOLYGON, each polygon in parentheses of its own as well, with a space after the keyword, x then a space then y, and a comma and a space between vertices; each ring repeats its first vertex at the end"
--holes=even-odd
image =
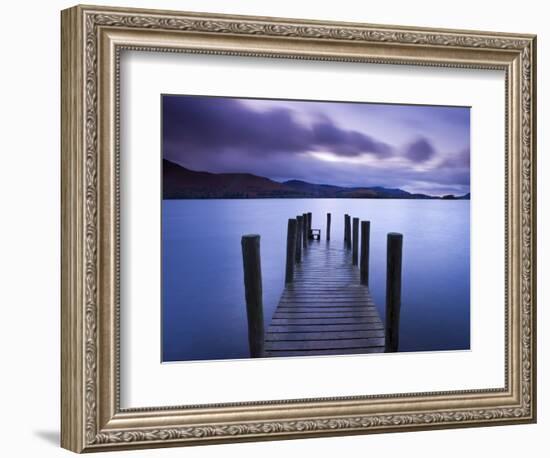
MULTIPOLYGON (((300 180, 283 183, 250 173, 210 173, 162 161, 164 199, 254 199, 254 198, 348 198, 348 199, 437 199, 380 186, 346 188, 300 180)), ((447 197, 462 199, 468 197, 447 197)))

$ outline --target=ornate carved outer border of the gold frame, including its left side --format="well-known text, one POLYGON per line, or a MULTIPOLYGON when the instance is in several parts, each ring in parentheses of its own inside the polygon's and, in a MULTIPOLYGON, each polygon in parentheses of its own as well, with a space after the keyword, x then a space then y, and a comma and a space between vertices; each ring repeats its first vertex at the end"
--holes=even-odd
MULTIPOLYGON (((366 428, 368 425, 363 425, 361 418, 306 419, 304 421, 292 422, 293 424, 289 421, 283 422, 282 420, 277 420, 278 423, 256 422, 233 425, 226 423, 221 425, 192 425, 188 428, 179 428, 179 425, 177 425, 172 429, 138 428, 130 431, 101 431, 103 425, 101 415, 98 413, 100 410, 98 404, 102 402, 102 399, 98 398, 98 396, 102 397, 103 395, 101 390, 97 389, 97 384, 101 381, 102 373, 101 367, 97 366, 99 356, 97 355, 97 351, 103 350, 96 348, 99 342, 97 333, 99 323, 96 322, 96 314, 101 312, 98 302, 101 300, 101 295, 97 295, 98 290, 101 293, 101 284, 97 282, 102 281, 101 272, 97 271, 97 250, 100 243, 97 240, 99 235, 97 224, 100 223, 98 220, 101 218, 102 213, 101 209, 99 209, 98 213, 97 208, 97 204, 101 200, 101 191, 97 188, 97 173, 101 172, 101 167, 105 164, 102 164, 101 161, 98 164, 97 161, 99 158, 96 156, 96 147, 98 146, 96 141, 100 141, 100 138, 96 137, 97 130, 100 129, 100 126, 96 125, 96 114, 101 104, 97 103, 96 91, 98 87, 95 86, 96 80, 94 77, 98 70, 96 68, 98 62, 97 55, 95 54, 97 50, 93 41, 94 37, 91 34, 93 27, 91 26, 95 24, 92 19, 90 30, 88 30, 86 13, 90 13, 91 15, 101 13, 103 21, 99 24, 100 26, 117 27, 120 25, 117 24, 118 18, 105 16, 105 14, 108 15, 109 13, 116 16, 116 12, 129 14, 130 21, 124 23, 124 26, 129 28, 150 28, 151 24, 147 22, 149 19, 147 15, 156 12, 157 14, 162 14, 162 16, 166 16, 162 18, 163 21, 167 18, 172 18, 172 16, 179 18, 178 20, 204 20, 202 23, 197 22, 196 29, 200 33, 206 33, 207 35, 210 33, 220 33, 225 37, 246 36, 255 33, 250 27, 256 25, 263 27, 264 24, 262 23, 265 21, 267 23, 265 25, 269 27, 269 33, 266 36, 270 38, 282 38, 288 33, 290 36, 297 36, 299 39, 324 40, 328 38, 331 41, 339 42, 345 38, 340 36, 333 37, 330 29, 339 25, 351 25, 309 20, 296 20, 296 24, 294 24, 295 21, 289 19, 280 19, 281 24, 277 24, 273 23, 273 21, 278 21, 277 18, 220 16, 203 13, 159 12, 155 10, 96 8, 90 6, 77 6, 62 12, 62 446, 75 452, 82 452, 121 448, 195 445, 198 443, 242 442, 248 440, 289 439, 294 437, 306 438, 367 432, 366 428), (213 22, 216 18, 220 19, 219 23, 213 22), (248 28, 246 30, 235 28, 239 24, 230 24, 230 20, 241 20, 248 28), (258 24, 255 24, 255 21, 259 21, 258 24), (282 26, 283 23, 285 27, 279 29, 279 25, 282 26), (319 30, 311 28, 311 26, 316 24, 320 25, 319 30), (210 29, 210 25, 214 29, 210 29), (327 35, 327 32, 330 32, 330 34, 327 35), (317 33, 319 33, 319 36, 316 35, 317 33), (93 52, 88 52, 88 47, 93 52), (300 427, 297 428, 294 423, 299 424, 300 427), (355 425, 356 423, 358 425, 355 425), (287 426, 288 430, 286 429, 287 426), (302 426, 306 429, 302 430, 302 426), (336 426, 336 429, 333 429, 333 426, 336 426), (312 429, 308 429, 309 427, 312 429)), ((167 24, 169 27, 161 25, 156 28, 170 29, 172 27, 171 23, 167 24)), ((357 27, 360 29, 365 27, 365 30, 352 31, 361 34, 359 38, 354 36, 352 40, 364 41, 363 32, 368 32, 369 25, 358 24, 357 27)), ((388 421, 390 421, 391 425, 382 422, 378 426, 375 426, 369 423, 369 428, 373 428, 369 432, 533 422, 536 418, 536 210, 534 207, 536 205, 536 37, 532 35, 479 32, 472 45, 467 40, 469 34, 476 34, 474 31, 448 31, 446 36, 442 36, 438 34, 442 33, 443 30, 430 29, 432 35, 435 35, 433 37, 430 36, 431 38, 420 36, 417 42, 416 40, 409 40, 409 35, 416 35, 416 32, 413 33, 413 31, 423 31, 423 28, 415 29, 413 27, 380 25, 376 27, 387 29, 384 36, 387 36, 390 41, 394 39, 394 31, 402 31, 403 37, 408 37, 405 41, 409 44, 414 43, 420 46, 429 45, 434 48, 439 47, 440 49, 460 49, 462 47, 470 49, 475 47, 478 47, 478 49, 494 48, 497 51, 518 53, 522 50, 525 53, 525 61, 527 62, 522 62, 523 65, 520 67, 520 74, 523 74, 523 72, 530 72, 530 74, 525 75, 526 77, 523 81, 526 85, 529 85, 529 90, 522 92, 523 96, 526 97, 524 98, 524 102, 526 102, 525 105, 527 106, 527 108, 524 107, 523 114, 526 114, 528 119, 525 125, 523 125, 524 130, 522 132, 521 143, 528 151, 525 152, 522 158, 527 164, 520 167, 521 171, 523 171, 523 176, 518 177, 517 180, 520 183, 523 181, 524 184, 524 188, 519 189, 520 199, 522 199, 520 212, 526 222, 522 224, 525 231, 523 232, 524 243, 521 244, 519 251, 526 259, 524 267, 518 267, 518 270, 523 273, 525 280, 523 285, 526 286, 524 311, 527 316, 525 316, 525 326, 522 329, 528 329, 530 335, 524 335, 522 331, 516 332, 519 332, 520 337, 526 339, 524 340, 523 356, 527 355, 527 358, 522 361, 523 370, 518 371, 518 380, 520 385, 523 385, 522 381, 524 380, 528 380, 530 383, 528 383, 529 386, 525 386, 525 391, 523 392, 523 401, 527 400, 527 402, 522 403, 516 411, 512 412, 510 410, 508 413, 512 414, 511 417, 506 415, 500 416, 501 413, 505 414, 504 409, 495 409, 493 413, 496 416, 492 418, 483 418, 484 411, 470 412, 466 410, 463 413, 459 411, 458 414, 471 413, 473 416, 470 420, 453 421, 451 424, 446 423, 447 417, 445 415, 448 414, 447 412, 442 412, 441 420, 437 421, 435 421, 435 417, 432 418, 431 412, 427 412, 418 414, 425 416, 425 420, 427 421, 418 422, 417 424, 416 420, 411 420, 412 415, 403 416, 404 423, 401 426, 391 423, 390 420, 388 421), (463 33, 466 34, 466 37, 460 37, 463 33), (435 39, 434 42, 432 42, 432 38, 435 39), (512 38, 517 38, 517 40, 511 41, 512 38), (424 42, 424 40, 427 41, 424 42), (466 41, 463 43, 462 40, 466 41), (526 67, 524 66, 525 64, 527 64, 526 67), (523 373, 525 378, 519 376, 519 373, 523 373), (525 407, 528 407, 528 410, 525 407), (478 415, 480 415, 479 418, 478 415)), ((189 32, 190 30, 194 31, 195 27, 192 25, 187 28, 183 24, 183 29, 189 32)), ((260 35, 262 34, 260 33, 260 35)), ((401 32, 399 36, 401 36, 401 32)), ((375 37, 376 40, 379 40, 379 38, 375 37)), ((400 42, 400 40, 397 39, 397 42, 400 42)), ((519 105, 521 106, 522 103, 519 102, 519 105)), ((519 113, 515 112, 515 114, 518 115, 519 113)), ((521 151, 521 148, 519 151, 521 151)), ((519 310, 516 313, 521 314, 519 310)), ((99 331, 102 332, 101 329, 99 331)), ((103 332, 105 331, 103 330, 103 332)), ((377 420, 377 418, 374 418, 374 420, 377 420)))

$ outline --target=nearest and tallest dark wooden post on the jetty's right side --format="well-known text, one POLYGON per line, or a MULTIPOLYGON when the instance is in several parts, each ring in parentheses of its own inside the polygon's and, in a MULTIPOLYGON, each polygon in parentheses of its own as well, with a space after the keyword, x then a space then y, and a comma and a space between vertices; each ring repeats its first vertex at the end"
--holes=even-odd
POLYGON ((401 261, 403 235, 388 234, 386 271, 386 351, 399 349, 399 315, 401 312, 401 261))

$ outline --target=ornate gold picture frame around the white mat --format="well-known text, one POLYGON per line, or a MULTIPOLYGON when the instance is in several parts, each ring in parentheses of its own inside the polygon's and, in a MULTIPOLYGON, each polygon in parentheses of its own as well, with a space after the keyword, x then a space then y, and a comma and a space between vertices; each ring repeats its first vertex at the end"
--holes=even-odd
POLYGON ((535 36, 92 6, 64 10, 61 33, 63 447, 89 452, 535 421, 535 36), (506 386, 121 410, 122 49, 505 71, 506 386))

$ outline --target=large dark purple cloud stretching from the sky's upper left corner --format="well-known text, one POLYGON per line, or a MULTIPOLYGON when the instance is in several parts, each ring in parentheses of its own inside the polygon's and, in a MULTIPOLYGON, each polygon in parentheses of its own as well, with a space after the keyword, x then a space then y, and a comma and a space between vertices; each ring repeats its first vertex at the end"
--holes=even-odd
POLYGON ((342 156, 392 153, 388 144, 342 129, 327 117, 306 126, 285 108, 258 112, 236 99, 214 97, 164 96, 163 141, 165 157, 173 160, 228 150, 262 155, 314 150, 342 156))

